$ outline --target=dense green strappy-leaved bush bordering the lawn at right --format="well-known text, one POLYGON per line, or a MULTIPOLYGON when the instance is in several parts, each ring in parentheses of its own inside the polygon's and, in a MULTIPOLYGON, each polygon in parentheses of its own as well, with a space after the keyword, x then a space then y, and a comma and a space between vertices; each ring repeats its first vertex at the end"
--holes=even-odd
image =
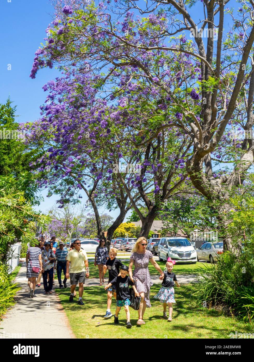
POLYGON ((249 252, 236 257, 229 251, 222 254, 211 268, 200 269, 199 283, 192 295, 202 305, 226 305, 230 311, 246 321, 254 321, 254 258, 253 244, 245 246, 249 252), (250 257, 251 256, 251 257, 250 257))

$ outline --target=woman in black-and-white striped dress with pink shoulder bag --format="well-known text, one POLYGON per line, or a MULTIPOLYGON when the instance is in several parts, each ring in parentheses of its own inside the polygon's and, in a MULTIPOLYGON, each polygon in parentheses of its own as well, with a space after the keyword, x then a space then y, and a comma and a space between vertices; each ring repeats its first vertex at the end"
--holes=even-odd
POLYGON ((26 252, 26 278, 28 278, 28 286, 30 288, 30 298, 34 297, 36 280, 39 273, 42 272, 41 248, 38 245, 29 247, 26 252), (38 273, 32 270, 33 267, 39 268, 38 273))

